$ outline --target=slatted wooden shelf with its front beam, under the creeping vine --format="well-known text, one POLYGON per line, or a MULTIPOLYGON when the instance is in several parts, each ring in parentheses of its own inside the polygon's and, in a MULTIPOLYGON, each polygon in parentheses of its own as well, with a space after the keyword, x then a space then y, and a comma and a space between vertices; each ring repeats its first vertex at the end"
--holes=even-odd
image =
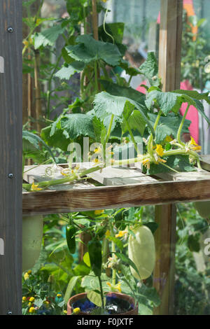
MULTIPOLYGON (((210 171, 209 156, 202 158, 202 165, 210 171)), ((61 165, 61 167, 65 166, 61 165)), ((45 169, 48 167, 50 165, 42 165, 35 169, 31 169, 32 166, 26 167, 26 170, 31 170, 25 173, 25 181, 31 183, 46 180, 45 169)), ((60 176, 60 169, 55 169, 54 178, 60 178, 60 176)), ((24 192, 22 195, 23 214, 58 214, 210 200, 210 172, 204 169, 179 174, 174 172, 158 174, 155 179, 142 174, 137 168, 108 167, 102 172, 90 174, 90 177, 91 182, 63 184, 48 190, 24 192)))

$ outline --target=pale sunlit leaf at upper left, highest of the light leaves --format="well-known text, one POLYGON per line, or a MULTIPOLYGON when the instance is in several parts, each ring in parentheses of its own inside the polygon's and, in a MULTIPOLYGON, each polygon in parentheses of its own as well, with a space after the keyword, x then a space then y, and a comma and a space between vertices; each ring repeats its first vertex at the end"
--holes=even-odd
POLYGON ((59 37, 60 34, 64 33, 64 28, 61 24, 50 27, 49 29, 45 29, 45 31, 36 33, 34 36, 34 48, 38 49, 43 45, 54 45, 55 41, 59 37))

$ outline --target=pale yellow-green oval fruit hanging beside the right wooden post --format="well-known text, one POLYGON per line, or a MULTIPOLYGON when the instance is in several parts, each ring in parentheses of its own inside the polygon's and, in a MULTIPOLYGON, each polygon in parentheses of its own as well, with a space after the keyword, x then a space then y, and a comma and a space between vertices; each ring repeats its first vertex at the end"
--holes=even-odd
POLYGON ((138 226, 133 232, 135 237, 132 235, 129 237, 128 256, 137 266, 139 274, 133 267, 130 267, 130 269, 136 279, 147 279, 151 276, 155 267, 155 240, 153 233, 144 225, 138 226))

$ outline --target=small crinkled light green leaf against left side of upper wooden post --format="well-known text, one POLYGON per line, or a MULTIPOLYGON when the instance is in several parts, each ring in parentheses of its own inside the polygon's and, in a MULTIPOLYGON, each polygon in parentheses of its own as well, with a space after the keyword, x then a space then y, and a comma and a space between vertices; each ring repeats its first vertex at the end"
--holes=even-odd
POLYGON ((148 52, 146 61, 139 67, 140 71, 148 78, 151 85, 159 86, 160 78, 158 78, 158 63, 154 52, 148 52))

